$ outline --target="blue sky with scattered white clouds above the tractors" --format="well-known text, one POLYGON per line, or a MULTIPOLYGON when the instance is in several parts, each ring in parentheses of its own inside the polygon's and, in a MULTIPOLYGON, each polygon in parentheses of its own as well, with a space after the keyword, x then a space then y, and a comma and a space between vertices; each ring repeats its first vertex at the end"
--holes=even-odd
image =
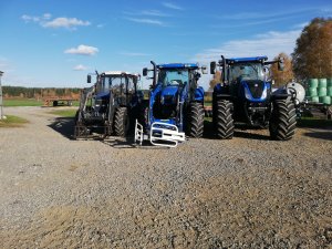
POLYGON ((89 72, 142 73, 151 60, 272 59, 315 17, 332 17, 331 0, 0 0, 2 84, 84 87, 89 72))

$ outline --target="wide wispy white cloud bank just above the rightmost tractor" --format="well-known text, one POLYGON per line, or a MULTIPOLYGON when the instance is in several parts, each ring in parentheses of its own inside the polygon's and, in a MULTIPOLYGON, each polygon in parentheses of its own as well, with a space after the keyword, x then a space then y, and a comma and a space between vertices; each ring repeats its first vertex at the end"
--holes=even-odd
POLYGON ((291 54, 300 33, 301 30, 288 32, 270 31, 258 34, 253 39, 232 40, 225 42, 219 48, 207 49, 196 54, 194 60, 209 63, 210 61, 219 60, 221 54, 228 58, 267 55, 269 59, 273 59, 280 52, 291 54))

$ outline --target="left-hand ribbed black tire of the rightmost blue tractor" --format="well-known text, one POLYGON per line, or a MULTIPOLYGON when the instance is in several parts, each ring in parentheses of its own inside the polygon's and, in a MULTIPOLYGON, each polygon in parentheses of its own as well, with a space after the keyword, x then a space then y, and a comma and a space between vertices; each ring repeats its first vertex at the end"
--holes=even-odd
POLYGON ((234 136, 234 118, 231 114, 232 103, 227 100, 217 101, 214 106, 214 125, 217 137, 221 139, 231 139, 234 136))

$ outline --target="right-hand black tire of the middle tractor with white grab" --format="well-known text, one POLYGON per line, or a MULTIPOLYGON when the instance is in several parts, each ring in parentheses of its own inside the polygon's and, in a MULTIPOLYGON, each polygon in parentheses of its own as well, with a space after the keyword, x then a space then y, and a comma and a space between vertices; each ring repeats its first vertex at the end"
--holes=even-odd
POLYGON ((188 110, 188 135, 199 138, 204 131, 204 107, 201 103, 190 103, 188 110))

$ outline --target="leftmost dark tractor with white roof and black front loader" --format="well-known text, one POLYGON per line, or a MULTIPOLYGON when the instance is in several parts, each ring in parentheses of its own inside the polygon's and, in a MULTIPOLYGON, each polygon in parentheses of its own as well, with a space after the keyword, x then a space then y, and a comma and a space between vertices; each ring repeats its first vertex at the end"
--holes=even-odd
MULTIPOLYGON (((92 74, 87 75, 91 83, 92 74)), ((139 94, 137 91, 138 74, 127 72, 96 72, 96 83, 82 91, 80 108, 75 117, 75 138, 86 138, 98 134, 103 138, 115 135, 126 136, 137 107, 139 94)), ((134 127, 134 125, 133 125, 134 127)))

